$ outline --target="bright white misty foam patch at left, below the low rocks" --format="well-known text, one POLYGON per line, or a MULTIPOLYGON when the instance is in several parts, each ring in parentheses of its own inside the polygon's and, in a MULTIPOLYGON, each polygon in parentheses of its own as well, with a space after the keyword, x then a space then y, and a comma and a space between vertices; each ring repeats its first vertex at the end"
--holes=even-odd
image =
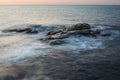
POLYGON ((5 51, 8 52, 0 57, 0 60, 6 63, 15 63, 15 62, 24 62, 29 60, 32 57, 45 55, 46 51, 37 48, 40 48, 41 45, 22 45, 20 47, 11 47, 6 48, 5 51))

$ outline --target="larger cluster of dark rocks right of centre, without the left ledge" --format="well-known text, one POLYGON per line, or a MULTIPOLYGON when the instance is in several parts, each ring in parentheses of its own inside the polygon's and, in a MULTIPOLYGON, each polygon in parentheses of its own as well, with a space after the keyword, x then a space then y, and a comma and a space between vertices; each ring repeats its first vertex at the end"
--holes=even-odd
POLYGON ((91 26, 87 23, 79 23, 63 30, 50 31, 46 34, 45 38, 41 38, 40 40, 48 43, 49 45, 60 45, 66 43, 63 40, 64 38, 76 35, 88 37, 111 36, 111 34, 101 34, 100 30, 91 30, 91 26))

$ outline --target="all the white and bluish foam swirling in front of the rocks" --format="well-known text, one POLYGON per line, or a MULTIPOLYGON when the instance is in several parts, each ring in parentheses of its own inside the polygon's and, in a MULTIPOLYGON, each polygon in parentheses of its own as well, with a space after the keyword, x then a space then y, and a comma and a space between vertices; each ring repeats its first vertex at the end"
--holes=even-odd
MULTIPOLYGON (((103 26, 102 26, 103 27, 103 26)), ((104 27, 103 27, 104 28, 104 27)), ((101 29, 103 29, 101 28, 101 29)), ((96 28, 98 29, 98 28, 96 28)), ((99 28, 100 29, 100 28, 99 28)), ((102 33, 111 33, 112 36, 109 38, 91 38, 85 36, 71 36, 64 39, 67 44, 50 46, 47 43, 42 43, 39 41, 41 37, 44 36, 44 32, 37 35, 22 35, 23 37, 14 35, 13 38, 9 37, 2 38, 4 40, 4 45, 0 48, 1 54, 0 61, 15 63, 24 62, 32 57, 48 55, 50 50, 67 50, 73 52, 79 52, 81 50, 91 50, 104 48, 103 42, 106 40, 112 40, 114 37, 119 35, 119 31, 116 30, 105 30, 102 33), (18 41, 18 42, 17 42, 18 41), (9 44, 9 45, 8 45, 9 44)))

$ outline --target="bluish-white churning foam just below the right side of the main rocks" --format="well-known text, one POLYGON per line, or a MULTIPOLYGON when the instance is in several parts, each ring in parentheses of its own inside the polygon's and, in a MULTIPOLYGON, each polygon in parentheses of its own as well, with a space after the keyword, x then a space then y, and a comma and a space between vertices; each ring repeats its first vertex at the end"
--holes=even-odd
POLYGON ((88 38, 88 37, 69 37, 65 39, 68 44, 60 45, 57 48, 69 49, 71 51, 89 50, 102 47, 102 42, 98 39, 88 38))

